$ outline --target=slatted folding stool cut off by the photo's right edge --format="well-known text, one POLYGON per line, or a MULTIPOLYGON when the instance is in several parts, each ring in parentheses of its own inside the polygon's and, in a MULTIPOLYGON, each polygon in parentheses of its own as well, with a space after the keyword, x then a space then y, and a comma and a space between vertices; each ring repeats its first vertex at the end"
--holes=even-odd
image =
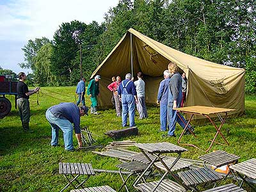
POLYGON ((243 182, 246 182, 251 188, 256 191, 256 187, 246 181, 247 177, 250 179, 256 179, 256 159, 249 159, 247 161, 234 164, 230 166, 230 170, 237 173, 237 175, 239 175, 239 177, 243 179, 241 182, 239 182, 236 178, 240 188, 243 185, 243 182))

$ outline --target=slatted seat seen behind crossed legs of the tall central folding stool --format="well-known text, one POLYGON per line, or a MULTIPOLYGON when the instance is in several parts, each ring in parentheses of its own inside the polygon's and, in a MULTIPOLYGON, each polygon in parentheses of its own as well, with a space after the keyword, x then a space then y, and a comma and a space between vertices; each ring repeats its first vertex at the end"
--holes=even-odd
MULTIPOLYGON (((170 166, 172 166, 173 162, 175 161, 175 157, 165 157, 163 159, 164 163, 170 168, 170 166)), ((165 166, 161 163, 161 162, 157 162, 155 163, 155 165, 157 166, 157 168, 164 170, 165 172, 167 172, 165 166)), ((172 172, 177 172, 178 170, 182 170, 185 168, 189 168, 189 166, 193 165, 192 163, 187 163, 186 161, 182 161, 179 160, 177 161, 177 163, 173 166, 173 168, 171 169, 172 172)))

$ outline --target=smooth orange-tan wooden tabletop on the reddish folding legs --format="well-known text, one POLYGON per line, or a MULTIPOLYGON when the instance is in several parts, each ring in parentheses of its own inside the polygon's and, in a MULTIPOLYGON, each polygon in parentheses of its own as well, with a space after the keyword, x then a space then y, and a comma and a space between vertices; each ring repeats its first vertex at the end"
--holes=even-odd
POLYGON ((211 115, 215 113, 225 113, 230 111, 235 111, 236 109, 227 109, 227 108, 213 108, 207 106, 189 106, 184 108, 173 108, 173 110, 181 111, 184 113, 197 113, 201 115, 211 115))

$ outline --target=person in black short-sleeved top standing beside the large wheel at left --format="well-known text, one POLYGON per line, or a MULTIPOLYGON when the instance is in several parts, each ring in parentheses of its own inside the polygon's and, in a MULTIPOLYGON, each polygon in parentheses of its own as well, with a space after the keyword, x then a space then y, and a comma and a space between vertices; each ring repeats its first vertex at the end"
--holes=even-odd
POLYGON ((24 131, 29 132, 29 119, 30 119, 30 107, 29 107, 29 95, 33 95, 40 90, 36 87, 34 90, 28 90, 28 85, 25 83, 27 78, 24 72, 18 74, 19 82, 17 83, 17 106, 19 109, 20 120, 24 131))

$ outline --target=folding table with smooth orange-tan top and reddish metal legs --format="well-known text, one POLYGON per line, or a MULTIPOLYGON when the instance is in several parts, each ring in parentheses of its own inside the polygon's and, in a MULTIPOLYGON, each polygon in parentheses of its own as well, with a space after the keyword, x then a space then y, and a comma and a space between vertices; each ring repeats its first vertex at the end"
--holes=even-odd
MULTIPOLYGON (((180 140, 182 138, 182 136, 184 135, 184 132, 188 129, 188 131, 190 131, 193 136, 195 136, 194 132, 192 132, 190 129, 189 129, 189 123, 191 122, 192 118, 194 115, 202 115, 202 116, 205 116, 209 119, 209 121, 211 122, 211 124, 214 126, 214 128, 216 129, 216 134, 213 138, 213 140, 211 141, 211 144, 209 146, 209 148, 207 148, 207 150, 205 150, 205 152, 208 152, 214 141, 216 140, 218 134, 220 134, 221 138, 223 138, 223 140, 225 141, 225 143, 227 143, 227 145, 229 145, 228 141, 226 140, 226 138, 223 136, 223 134, 221 133, 221 127, 223 126, 223 124, 225 123, 225 120, 227 118, 227 114, 228 112, 230 111, 235 111, 235 109, 226 109, 226 108, 213 108, 213 107, 207 107, 207 106, 189 106, 189 107, 184 107, 184 108, 174 108, 173 110, 177 110, 179 112, 182 112, 182 113, 189 113, 191 114, 191 117, 189 118, 188 120, 188 123, 186 124, 184 130, 182 131, 182 133, 180 134, 180 137, 179 137, 179 140, 178 140, 178 143, 181 144, 181 145, 187 145, 187 146, 191 146, 191 147, 196 147, 196 148, 199 148, 197 147, 196 145, 193 145, 193 144, 189 144, 189 143, 180 143, 180 140), (219 127, 217 127, 217 125, 213 122, 212 118, 210 115, 218 115, 219 117, 220 116, 220 113, 225 113, 225 116, 224 118, 221 118, 221 124, 219 127)), ((179 113, 178 113, 179 115, 179 113)), ((196 136, 195 136, 196 137, 196 136)), ((200 149, 200 148, 199 148, 200 149)))

